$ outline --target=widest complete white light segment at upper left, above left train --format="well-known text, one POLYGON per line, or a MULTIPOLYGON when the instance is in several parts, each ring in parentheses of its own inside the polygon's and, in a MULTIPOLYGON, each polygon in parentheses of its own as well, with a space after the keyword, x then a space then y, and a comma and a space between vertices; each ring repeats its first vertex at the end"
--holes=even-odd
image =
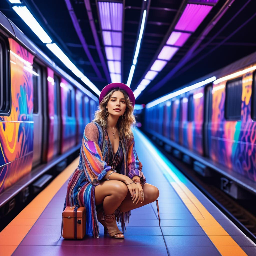
POLYGON ((29 12, 26 6, 13 6, 15 12, 24 20, 30 29, 39 37, 43 43, 51 43, 51 38, 47 35, 44 29, 39 25, 34 16, 29 12))

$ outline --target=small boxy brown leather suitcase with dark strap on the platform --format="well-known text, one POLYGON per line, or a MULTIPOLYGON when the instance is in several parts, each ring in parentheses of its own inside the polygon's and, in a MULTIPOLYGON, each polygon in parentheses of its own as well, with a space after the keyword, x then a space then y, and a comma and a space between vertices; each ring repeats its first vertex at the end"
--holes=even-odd
POLYGON ((62 212, 62 237, 65 239, 83 239, 86 232, 85 207, 67 206, 62 212))

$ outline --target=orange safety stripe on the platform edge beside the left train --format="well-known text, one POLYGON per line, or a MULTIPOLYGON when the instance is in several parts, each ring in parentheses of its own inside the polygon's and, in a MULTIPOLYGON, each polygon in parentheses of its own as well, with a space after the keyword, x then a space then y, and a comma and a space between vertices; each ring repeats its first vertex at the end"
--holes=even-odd
MULTIPOLYGON (((33 227, 51 199, 77 168, 77 157, 44 190, 42 190, 9 224, 0 232, 0 254, 9 256, 33 227)), ((64 197, 63 197, 64 198, 64 197)), ((64 198, 65 200, 65 198, 64 198)), ((64 201, 63 201, 64 206, 64 201)))

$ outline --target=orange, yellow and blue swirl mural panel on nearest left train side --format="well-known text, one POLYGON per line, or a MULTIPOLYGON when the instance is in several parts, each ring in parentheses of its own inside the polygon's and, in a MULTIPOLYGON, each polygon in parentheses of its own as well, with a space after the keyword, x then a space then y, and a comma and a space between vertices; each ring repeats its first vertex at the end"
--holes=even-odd
POLYGON ((33 158, 34 56, 9 38, 12 105, 0 116, 0 193, 31 171, 33 158))

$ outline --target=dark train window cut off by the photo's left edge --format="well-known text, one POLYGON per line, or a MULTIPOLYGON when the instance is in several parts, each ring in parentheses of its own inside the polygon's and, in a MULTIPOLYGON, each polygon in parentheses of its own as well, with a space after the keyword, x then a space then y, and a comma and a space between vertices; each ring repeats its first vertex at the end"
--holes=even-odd
POLYGON ((8 47, 0 37, 0 115, 10 113, 11 92, 9 83, 8 47))

